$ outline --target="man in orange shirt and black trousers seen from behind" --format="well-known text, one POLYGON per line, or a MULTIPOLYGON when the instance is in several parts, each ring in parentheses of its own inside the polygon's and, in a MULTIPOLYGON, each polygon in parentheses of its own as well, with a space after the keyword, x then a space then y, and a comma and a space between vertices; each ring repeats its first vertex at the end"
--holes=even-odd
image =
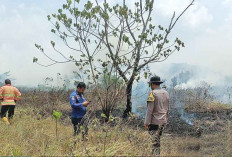
POLYGON ((0 88, 0 100, 2 100, 1 105, 1 118, 4 122, 9 124, 6 114, 8 112, 8 118, 12 119, 14 116, 14 110, 16 102, 20 99, 21 93, 16 87, 11 86, 11 81, 9 79, 5 80, 5 86, 0 88))

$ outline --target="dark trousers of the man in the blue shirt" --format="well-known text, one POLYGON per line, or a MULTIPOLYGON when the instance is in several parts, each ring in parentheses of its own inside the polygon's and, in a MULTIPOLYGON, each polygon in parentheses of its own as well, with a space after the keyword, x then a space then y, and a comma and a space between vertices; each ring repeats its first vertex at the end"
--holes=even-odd
POLYGON ((82 132, 82 136, 88 134, 88 121, 85 118, 71 118, 74 128, 74 136, 82 132))

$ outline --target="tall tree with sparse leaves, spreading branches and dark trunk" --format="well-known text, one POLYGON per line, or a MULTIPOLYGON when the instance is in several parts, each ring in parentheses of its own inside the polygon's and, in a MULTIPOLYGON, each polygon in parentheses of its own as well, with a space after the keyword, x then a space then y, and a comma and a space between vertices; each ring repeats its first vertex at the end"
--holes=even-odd
MULTIPOLYGON (((160 25, 155 26, 152 20, 154 0, 139 0, 132 8, 125 0, 121 4, 109 4, 106 0, 99 3, 95 0, 87 1, 84 5, 79 0, 67 0, 57 14, 48 15, 48 20, 55 27, 51 31, 79 56, 65 56, 51 41, 54 50, 65 59, 56 61, 40 45, 36 44, 36 47, 53 61, 50 65, 74 62, 96 86, 99 76, 103 75, 102 69, 110 66, 106 74, 117 74, 116 80, 122 78, 126 84, 126 117, 131 112, 134 81, 147 78, 150 74, 149 64, 162 62, 184 47, 178 38, 170 42, 169 34, 193 2, 177 17, 174 12, 165 29, 160 25)), ((34 58, 34 62, 38 63, 38 59, 34 58)), ((100 94, 99 100, 103 104, 100 94)))

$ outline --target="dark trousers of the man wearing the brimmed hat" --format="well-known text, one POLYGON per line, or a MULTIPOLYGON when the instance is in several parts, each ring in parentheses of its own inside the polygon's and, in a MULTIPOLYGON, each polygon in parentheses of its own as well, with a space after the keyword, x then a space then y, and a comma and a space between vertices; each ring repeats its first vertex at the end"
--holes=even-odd
POLYGON ((152 154, 160 155, 160 137, 163 133, 164 125, 150 124, 148 126, 148 132, 152 137, 152 154))

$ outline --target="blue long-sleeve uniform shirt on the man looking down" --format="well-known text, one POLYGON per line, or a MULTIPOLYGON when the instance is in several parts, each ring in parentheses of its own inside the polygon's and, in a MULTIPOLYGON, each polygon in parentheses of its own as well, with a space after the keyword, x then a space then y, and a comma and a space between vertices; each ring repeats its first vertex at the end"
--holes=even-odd
POLYGON ((82 118, 86 114, 86 107, 83 105, 86 99, 83 94, 79 94, 76 90, 70 95, 69 102, 72 107, 72 118, 82 118))

